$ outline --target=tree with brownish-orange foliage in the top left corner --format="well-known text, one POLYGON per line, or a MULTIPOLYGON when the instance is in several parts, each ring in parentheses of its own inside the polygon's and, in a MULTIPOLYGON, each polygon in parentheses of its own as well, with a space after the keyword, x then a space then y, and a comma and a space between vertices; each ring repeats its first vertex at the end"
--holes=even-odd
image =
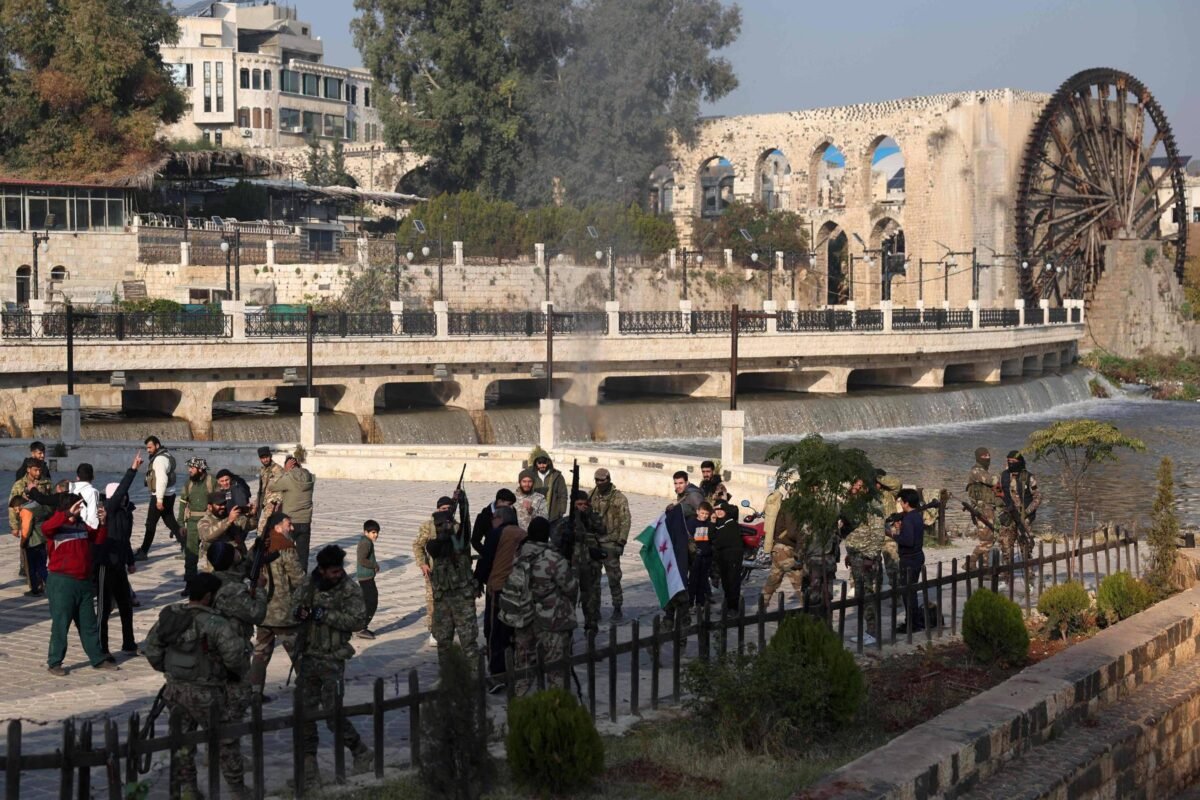
POLYGON ((0 4, 0 168, 98 178, 145 168, 184 96, 158 46, 179 40, 163 0, 0 4))

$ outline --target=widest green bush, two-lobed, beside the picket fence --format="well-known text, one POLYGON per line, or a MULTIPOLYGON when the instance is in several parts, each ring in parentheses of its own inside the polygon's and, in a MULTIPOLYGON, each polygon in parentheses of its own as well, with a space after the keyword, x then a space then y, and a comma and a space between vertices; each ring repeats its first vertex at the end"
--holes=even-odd
POLYGON ((823 622, 785 619, 757 655, 692 662, 689 706, 726 746, 786 752, 853 720, 866 687, 854 657, 823 622))

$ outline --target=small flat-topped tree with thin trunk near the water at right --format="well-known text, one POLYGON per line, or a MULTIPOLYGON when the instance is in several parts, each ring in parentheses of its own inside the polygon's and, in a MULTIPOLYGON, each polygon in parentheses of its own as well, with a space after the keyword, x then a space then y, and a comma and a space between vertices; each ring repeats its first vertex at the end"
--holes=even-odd
MULTIPOLYGON (((1070 495, 1070 537, 1075 546, 1079 545, 1079 512, 1091 491, 1088 470, 1094 464, 1115 462, 1118 449, 1145 452, 1146 445, 1141 439, 1124 435, 1116 426, 1097 420, 1066 420, 1030 434, 1026 450, 1036 461, 1045 458, 1057 464, 1062 488, 1070 495)), ((1068 579, 1070 569, 1068 559, 1068 579)))

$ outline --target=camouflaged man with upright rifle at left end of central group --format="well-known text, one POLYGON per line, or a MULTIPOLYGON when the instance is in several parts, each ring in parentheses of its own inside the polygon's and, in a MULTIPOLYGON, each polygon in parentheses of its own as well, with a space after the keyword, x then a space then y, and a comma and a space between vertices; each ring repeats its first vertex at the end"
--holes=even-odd
MULTIPOLYGON (((454 504, 446 511, 433 515, 434 536, 425 545, 425 553, 432 560, 430 583, 433 587, 433 640, 438 644, 439 661, 454 644, 467 656, 474 669, 479 663, 479 625, 475 621, 475 595, 478 585, 470 571, 470 527, 467 495, 457 489, 458 524, 454 521, 454 504)), ((440 505, 440 503, 439 503, 440 505)))

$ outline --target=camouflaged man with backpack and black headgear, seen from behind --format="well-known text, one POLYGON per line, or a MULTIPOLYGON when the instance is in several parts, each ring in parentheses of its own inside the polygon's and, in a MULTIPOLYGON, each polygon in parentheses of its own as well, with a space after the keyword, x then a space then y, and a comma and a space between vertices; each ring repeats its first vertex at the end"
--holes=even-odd
MULTIPOLYGON (((532 621, 516 630, 516 667, 532 666, 541 650, 542 663, 560 661, 571 655, 571 632, 575 630, 575 602, 580 591, 575 570, 566 558, 550 545, 550 523, 534 518, 526 541, 521 545, 512 575, 528 577, 526 602, 533 603, 532 621)), ((546 675, 547 685, 562 686, 562 673, 546 675)), ((528 679, 517 684, 518 693, 528 690, 528 679)), ((562 688, 570 688, 562 686, 562 688)))

